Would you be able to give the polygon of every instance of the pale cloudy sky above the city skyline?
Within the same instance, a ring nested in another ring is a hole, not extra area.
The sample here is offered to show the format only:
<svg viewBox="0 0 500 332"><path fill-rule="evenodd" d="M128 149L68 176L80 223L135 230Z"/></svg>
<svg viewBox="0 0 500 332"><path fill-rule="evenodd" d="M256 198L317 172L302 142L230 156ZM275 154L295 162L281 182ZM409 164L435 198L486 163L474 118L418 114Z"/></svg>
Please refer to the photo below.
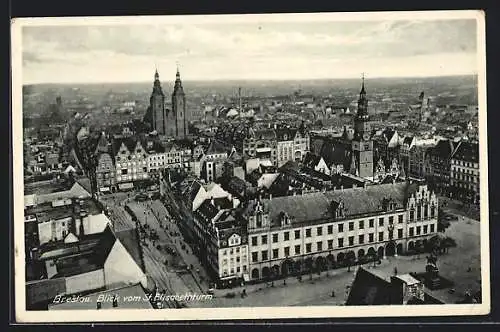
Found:
<svg viewBox="0 0 500 332"><path fill-rule="evenodd" d="M22 30L23 83L477 73L476 21L244 21Z"/></svg>

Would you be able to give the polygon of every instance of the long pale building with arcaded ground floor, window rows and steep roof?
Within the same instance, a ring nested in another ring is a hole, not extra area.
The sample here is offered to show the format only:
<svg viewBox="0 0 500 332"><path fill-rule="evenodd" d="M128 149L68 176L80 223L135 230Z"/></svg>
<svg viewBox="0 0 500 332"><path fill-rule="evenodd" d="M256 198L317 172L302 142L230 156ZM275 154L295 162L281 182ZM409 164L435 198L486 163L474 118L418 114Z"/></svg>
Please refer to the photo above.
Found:
<svg viewBox="0 0 500 332"><path fill-rule="evenodd" d="M390 183L251 201L250 277L283 277L403 254L437 232L426 185Z"/></svg>

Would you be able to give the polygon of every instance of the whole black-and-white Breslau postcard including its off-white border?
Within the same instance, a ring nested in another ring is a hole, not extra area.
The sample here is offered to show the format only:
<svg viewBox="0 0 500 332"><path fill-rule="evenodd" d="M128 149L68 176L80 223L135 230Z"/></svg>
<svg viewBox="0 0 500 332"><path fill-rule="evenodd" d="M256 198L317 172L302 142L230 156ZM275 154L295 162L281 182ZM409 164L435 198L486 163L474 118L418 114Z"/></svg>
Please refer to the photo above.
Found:
<svg viewBox="0 0 500 332"><path fill-rule="evenodd" d="M490 312L483 12L11 32L18 321Z"/></svg>

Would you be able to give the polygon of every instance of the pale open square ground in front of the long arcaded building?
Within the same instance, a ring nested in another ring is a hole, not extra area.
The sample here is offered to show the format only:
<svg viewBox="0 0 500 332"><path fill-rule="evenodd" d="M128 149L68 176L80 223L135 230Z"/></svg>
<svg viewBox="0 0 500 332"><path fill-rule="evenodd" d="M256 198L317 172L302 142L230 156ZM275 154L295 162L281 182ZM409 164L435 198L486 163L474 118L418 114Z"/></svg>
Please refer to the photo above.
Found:
<svg viewBox="0 0 500 332"><path fill-rule="evenodd" d="M440 274L454 282L454 292L450 289L432 291L433 296L446 303L455 303L464 297L466 291L475 293L481 289L480 260L480 223L460 217L453 221L445 236L454 238L456 248L438 257L437 265ZM425 271L425 254L412 256L387 256L380 265L364 264L369 269L376 269L387 274L398 274ZM277 279L270 283L245 285L233 289L217 289L210 301L190 302L189 307L256 307L256 306L309 306L309 305L343 305L346 289L354 280L356 267L333 269L303 275L302 281L296 277ZM311 279L310 279L311 278ZM245 289L247 296L241 297ZM332 291L335 297L332 297ZM229 294L229 295L228 295Z"/></svg>

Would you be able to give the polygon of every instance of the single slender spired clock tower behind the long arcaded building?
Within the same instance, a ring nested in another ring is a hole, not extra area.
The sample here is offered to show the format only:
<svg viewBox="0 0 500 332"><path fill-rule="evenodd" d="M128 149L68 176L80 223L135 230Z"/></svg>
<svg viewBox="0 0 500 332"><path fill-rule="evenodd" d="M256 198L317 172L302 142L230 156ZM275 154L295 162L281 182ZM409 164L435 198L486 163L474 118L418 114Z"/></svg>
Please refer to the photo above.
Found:
<svg viewBox="0 0 500 332"><path fill-rule="evenodd" d="M361 85L358 99L358 111L354 117L354 138L352 140L351 172L355 175L373 179L373 141L368 116L368 99L366 99L365 78Z"/></svg>

